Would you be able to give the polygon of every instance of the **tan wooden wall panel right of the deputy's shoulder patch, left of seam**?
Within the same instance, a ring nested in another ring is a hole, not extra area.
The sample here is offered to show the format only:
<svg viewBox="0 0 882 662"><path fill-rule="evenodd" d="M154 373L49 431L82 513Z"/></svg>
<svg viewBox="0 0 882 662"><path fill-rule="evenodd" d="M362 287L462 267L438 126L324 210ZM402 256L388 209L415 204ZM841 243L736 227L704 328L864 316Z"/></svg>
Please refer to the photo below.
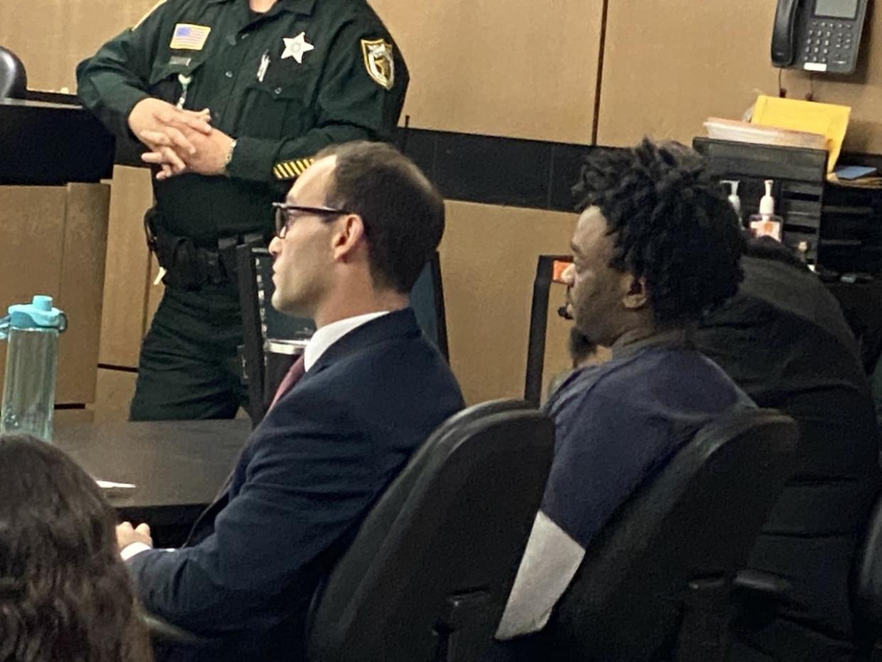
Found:
<svg viewBox="0 0 882 662"><path fill-rule="evenodd" d="M407 59L413 126L591 139L602 0L371 4Z"/></svg>

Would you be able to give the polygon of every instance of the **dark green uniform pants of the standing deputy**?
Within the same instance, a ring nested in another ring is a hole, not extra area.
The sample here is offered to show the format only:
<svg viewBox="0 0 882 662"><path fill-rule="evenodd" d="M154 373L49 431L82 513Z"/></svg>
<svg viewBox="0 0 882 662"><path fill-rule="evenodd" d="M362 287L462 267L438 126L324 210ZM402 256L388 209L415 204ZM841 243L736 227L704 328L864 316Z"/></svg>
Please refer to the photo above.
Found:
<svg viewBox="0 0 882 662"><path fill-rule="evenodd" d="M235 287L167 288L141 345L133 421L233 418L247 403Z"/></svg>

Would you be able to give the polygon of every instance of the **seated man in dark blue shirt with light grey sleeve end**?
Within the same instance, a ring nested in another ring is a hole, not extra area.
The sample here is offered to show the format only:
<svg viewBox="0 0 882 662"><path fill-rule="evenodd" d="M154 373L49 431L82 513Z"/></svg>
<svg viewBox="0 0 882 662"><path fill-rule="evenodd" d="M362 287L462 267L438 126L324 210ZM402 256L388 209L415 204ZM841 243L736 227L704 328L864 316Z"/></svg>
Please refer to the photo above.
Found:
<svg viewBox="0 0 882 662"><path fill-rule="evenodd" d="M700 160L649 140L599 150L574 192L568 305L612 359L574 372L546 405L555 458L500 639L543 628L617 508L702 425L753 406L689 339L742 278L736 215Z"/></svg>

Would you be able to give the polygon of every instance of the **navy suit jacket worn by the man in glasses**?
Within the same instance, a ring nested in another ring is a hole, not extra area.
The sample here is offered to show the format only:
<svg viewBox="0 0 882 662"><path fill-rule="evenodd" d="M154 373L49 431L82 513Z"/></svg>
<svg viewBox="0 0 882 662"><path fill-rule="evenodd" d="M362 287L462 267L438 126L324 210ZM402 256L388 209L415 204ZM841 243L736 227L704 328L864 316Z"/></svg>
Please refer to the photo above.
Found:
<svg viewBox="0 0 882 662"><path fill-rule="evenodd" d="M411 309L344 335L251 433L198 543L129 561L146 609L221 637L225 658L297 658L318 583L415 448L462 407Z"/></svg>

